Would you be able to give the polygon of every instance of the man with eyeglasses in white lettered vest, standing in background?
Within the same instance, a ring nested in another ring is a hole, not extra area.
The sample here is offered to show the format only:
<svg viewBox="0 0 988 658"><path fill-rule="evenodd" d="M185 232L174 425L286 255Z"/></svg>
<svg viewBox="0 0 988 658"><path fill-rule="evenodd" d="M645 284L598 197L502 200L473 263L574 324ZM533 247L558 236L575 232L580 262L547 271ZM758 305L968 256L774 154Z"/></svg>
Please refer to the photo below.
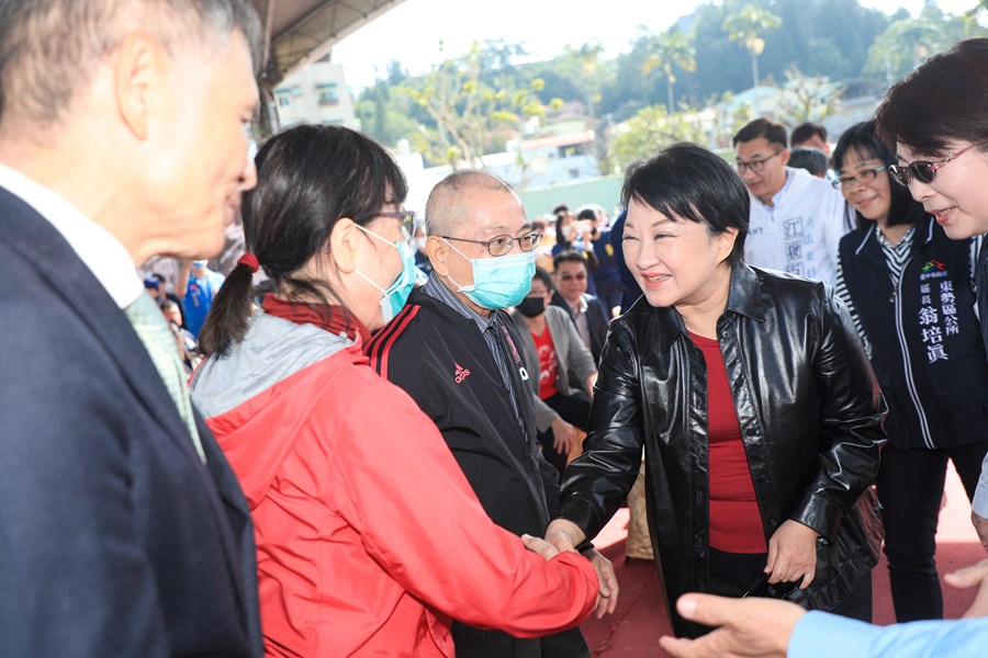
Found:
<svg viewBox="0 0 988 658"><path fill-rule="evenodd" d="M756 118L733 145L734 167L752 197L745 262L832 285L838 245L851 226L843 196L828 181L786 166L779 124Z"/></svg>

